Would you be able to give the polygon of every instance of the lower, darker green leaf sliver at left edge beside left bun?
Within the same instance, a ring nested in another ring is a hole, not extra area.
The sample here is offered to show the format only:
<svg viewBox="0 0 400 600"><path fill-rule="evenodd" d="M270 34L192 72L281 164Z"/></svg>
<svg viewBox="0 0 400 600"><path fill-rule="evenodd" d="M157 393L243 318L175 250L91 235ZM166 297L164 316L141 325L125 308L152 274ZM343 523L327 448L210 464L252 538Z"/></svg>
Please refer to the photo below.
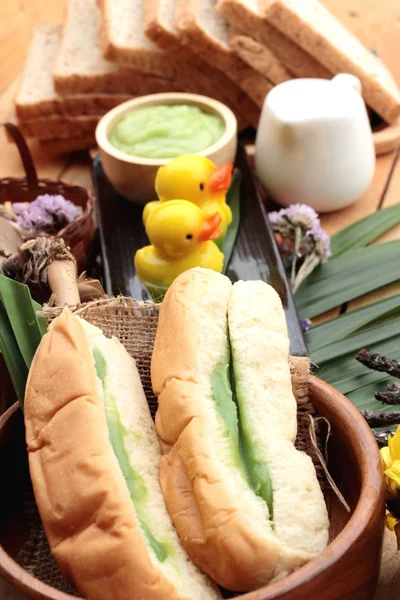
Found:
<svg viewBox="0 0 400 600"><path fill-rule="evenodd" d="M17 340L11 323L7 316L7 311L0 301L0 350L10 374L15 393L21 405L24 402L25 384L28 377L28 368L18 348Z"/></svg>

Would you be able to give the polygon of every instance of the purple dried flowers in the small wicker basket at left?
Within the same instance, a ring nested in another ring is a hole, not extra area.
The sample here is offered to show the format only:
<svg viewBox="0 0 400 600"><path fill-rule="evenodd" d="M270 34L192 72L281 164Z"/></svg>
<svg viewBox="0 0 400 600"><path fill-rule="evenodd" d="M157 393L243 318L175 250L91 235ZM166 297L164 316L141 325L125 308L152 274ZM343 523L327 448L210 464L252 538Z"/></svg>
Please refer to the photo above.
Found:
<svg viewBox="0 0 400 600"><path fill-rule="evenodd" d="M75 221L82 209L64 196L43 194L28 205L16 202L13 212L18 226L25 231L56 233Z"/></svg>

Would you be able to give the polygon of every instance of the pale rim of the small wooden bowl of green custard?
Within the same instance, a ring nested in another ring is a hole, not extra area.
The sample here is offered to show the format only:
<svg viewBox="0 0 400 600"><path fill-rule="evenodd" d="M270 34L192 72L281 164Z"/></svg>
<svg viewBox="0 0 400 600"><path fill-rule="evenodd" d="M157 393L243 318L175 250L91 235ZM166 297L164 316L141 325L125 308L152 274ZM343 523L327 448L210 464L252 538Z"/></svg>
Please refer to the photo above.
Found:
<svg viewBox="0 0 400 600"><path fill-rule="evenodd" d="M119 121L126 113L131 110L142 108L144 106L156 106L158 104L191 104L203 107L208 110L212 110L221 117L225 124L225 131L222 136L211 146L196 152L199 156L209 156L224 148L232 139L237 135L237 119L234 113L228 106L209 98L208 96L202 96L200 94L187 94L184 92L168 92L159 94L148 94L147 96L140 96L138 98L132 98L122 102L115 108L108 111L98 122L95 132L96 142L100 150L112 156L114 159L127 164L143 165L150 167L159 167L167 164L172 160L171 158L145 158L143 156L136 156L133 154L127 154L122 150L118 150L111 144L108 139L108 133L111 127Z"/></svg>

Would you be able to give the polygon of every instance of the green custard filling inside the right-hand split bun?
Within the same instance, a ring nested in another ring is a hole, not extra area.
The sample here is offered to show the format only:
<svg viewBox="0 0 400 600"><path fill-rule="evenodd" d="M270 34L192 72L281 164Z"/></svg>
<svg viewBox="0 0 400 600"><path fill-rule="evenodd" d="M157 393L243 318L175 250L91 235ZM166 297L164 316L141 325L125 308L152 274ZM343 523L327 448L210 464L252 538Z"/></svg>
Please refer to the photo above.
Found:
<svg viewBox="0 0 400 600"><path fill-rule="evenodd" d="M231 354L231 363L234 371L233 354ZM214 369L211 374L211 386L215 406L225 426L225 435L230 440L234 464L246 476L253 491L267 503L272 520L271 474L260 449L252 443L251 427L246 414L246 400L241 394L237 396L229 365L218 365Z"/></svg>

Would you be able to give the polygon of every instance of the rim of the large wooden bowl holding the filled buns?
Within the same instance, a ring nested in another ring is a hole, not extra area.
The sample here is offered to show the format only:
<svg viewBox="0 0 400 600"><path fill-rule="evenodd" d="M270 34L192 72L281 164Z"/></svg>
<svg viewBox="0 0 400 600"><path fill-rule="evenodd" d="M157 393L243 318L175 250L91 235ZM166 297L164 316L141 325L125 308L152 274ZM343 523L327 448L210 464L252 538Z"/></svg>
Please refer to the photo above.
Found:
<svg viewBox="0 0 400 600"><path fill-rule="evenodd" d="M382 512L383 532L384 479L379 449L369 425L350 400L318 377L310 376L310 392L312 398L319 393L323 394L325 404L332 411L338 411L340 406L340 418L352 424L354 432L353 447L359 446L362 453L368 456L368 460L361 467L360 497L348 523L321 554L284 579L238 596L243 600L273 600L279 598L281 594L293 591L302 584L314 579L332 567L363 536L368 529L371 515L376 517ZM19 404L16 402L0 417L0 433L7 421L18 410ZM372 493L373 490L375 493ZM11 558L2 545L0 545L0 575L12 585L15 585L17 589L27 595L31 594L33 598L39 598L40 600L72 600L74 598L70 594L61 592L36 579ZM84 599L78 597L75 600Z"/></svg>

